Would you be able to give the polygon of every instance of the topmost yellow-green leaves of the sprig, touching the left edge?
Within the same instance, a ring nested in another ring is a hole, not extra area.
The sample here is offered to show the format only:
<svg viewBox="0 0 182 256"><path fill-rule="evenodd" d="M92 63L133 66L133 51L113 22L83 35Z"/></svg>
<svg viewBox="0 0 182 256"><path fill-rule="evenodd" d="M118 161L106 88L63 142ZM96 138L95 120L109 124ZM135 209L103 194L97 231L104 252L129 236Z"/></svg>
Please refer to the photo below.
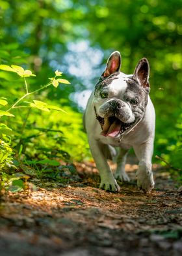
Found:
<svg viewBox="0 0 182 256"><path fill-rule="evenodd" d="M17 66L17 65L0 65L0 69L3 71L10 71L10 72L16 72L21 77L29 77L29 76L36 76L35 74L32 74L32 71L29 71L28 69L23 69L23 67Z"/></svg>

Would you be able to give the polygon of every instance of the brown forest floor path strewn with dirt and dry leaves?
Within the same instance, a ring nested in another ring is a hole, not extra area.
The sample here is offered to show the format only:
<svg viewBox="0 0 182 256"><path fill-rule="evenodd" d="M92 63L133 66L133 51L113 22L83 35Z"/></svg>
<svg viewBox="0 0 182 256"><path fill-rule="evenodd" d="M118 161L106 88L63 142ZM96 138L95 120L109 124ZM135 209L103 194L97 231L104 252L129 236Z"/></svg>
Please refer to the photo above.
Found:
<svg viewBox="0 0 182 256"><path fill-rule="evenodd" d="M0 255L182 255L182 189L153 165L155 189L136 187L137 166L120 193L98 189L94 163L62 185L32 177L37 189L1 195Z"/></svg>

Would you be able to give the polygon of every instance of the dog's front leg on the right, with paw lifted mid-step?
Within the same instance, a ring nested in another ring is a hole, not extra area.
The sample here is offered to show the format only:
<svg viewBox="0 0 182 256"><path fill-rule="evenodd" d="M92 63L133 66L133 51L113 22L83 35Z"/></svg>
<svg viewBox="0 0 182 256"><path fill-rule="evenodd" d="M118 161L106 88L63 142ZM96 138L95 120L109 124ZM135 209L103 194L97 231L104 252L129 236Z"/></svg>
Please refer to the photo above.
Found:
<svg viewBox="0 0 182 256"><path fill-rule="evenodd" d="M139 165L136 172L137 185L145 193L151 191L154 187L153 173L151 171L151 157L153 155L153 138L148 142L134 147L136 157L138 157Z"/></svg>

